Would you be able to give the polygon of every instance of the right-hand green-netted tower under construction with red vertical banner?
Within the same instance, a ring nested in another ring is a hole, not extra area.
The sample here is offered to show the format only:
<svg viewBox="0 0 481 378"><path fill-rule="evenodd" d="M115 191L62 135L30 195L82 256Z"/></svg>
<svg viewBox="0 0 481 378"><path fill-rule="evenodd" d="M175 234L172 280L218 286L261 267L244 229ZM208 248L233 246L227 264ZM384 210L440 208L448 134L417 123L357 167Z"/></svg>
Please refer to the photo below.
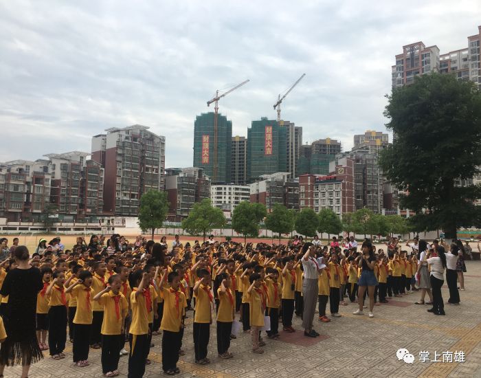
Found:
<svg viewBox="0 0 481 378"><path fill-rule="evenodd" d="M286 170L286 128L262 117L247 129L247 182ZM289 173L290 175L290 173Z"/></svg>

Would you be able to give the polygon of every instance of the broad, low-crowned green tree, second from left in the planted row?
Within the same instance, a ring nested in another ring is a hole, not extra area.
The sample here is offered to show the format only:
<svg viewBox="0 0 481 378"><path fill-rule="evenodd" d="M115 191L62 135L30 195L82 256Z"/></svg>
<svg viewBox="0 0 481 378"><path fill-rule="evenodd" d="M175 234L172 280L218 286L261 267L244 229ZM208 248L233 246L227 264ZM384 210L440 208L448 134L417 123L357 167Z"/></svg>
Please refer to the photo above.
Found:
<svg viewBox="0 0 481 378"><path fill-rule="evenodd" d="M186 219L182 221L182 229L191 235L205 235L214 228L222 228L227 223L224 213L219 208L214 208L210 199L203 199L194 203Z"/></svg>

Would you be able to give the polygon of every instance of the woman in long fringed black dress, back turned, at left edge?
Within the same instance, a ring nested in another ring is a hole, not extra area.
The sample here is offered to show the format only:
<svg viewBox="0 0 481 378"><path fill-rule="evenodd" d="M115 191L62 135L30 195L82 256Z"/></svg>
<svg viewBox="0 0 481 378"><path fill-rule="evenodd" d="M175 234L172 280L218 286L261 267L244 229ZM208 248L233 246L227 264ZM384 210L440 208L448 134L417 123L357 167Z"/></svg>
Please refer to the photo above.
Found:
<svg viewBox="0 0 481 378"><path fill-rule="evenodd" d="M30 365L43 358L35 334L36 297L43 287L40 270L29 264L30 254L21 245L14 252L17 267L8 271L0 296L8 296L3 322L7 339L0 348L0 377L6 366L22 365L22 378Z"/></svg>

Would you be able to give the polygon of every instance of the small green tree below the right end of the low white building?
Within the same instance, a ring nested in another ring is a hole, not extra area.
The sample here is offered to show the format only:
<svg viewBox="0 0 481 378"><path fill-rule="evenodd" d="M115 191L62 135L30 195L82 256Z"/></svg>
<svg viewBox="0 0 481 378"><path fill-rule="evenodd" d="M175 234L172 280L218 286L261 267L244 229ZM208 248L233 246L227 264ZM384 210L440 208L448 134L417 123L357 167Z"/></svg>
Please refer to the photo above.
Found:
<svg viewBox="0 0 481 378"><path fill-rule="evenodd" d="M243 234L245 243L247 236L258 236L259 223L266 215L267 210L262 203L242 201L232 212L232 230Z"/></svg>

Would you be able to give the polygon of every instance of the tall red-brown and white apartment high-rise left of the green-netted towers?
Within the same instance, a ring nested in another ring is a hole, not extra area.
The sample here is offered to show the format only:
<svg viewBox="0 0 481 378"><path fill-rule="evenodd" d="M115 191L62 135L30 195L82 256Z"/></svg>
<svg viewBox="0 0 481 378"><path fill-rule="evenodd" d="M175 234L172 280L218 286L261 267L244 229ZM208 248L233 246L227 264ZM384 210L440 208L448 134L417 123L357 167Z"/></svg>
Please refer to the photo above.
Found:
<svg viewBox="0 0 481 378"><path fill-rule="evenodd" d="M164 189L166 138L135 124L92 137L92 159L104 168L104 212L137 216L139 199Z"/></svg>

